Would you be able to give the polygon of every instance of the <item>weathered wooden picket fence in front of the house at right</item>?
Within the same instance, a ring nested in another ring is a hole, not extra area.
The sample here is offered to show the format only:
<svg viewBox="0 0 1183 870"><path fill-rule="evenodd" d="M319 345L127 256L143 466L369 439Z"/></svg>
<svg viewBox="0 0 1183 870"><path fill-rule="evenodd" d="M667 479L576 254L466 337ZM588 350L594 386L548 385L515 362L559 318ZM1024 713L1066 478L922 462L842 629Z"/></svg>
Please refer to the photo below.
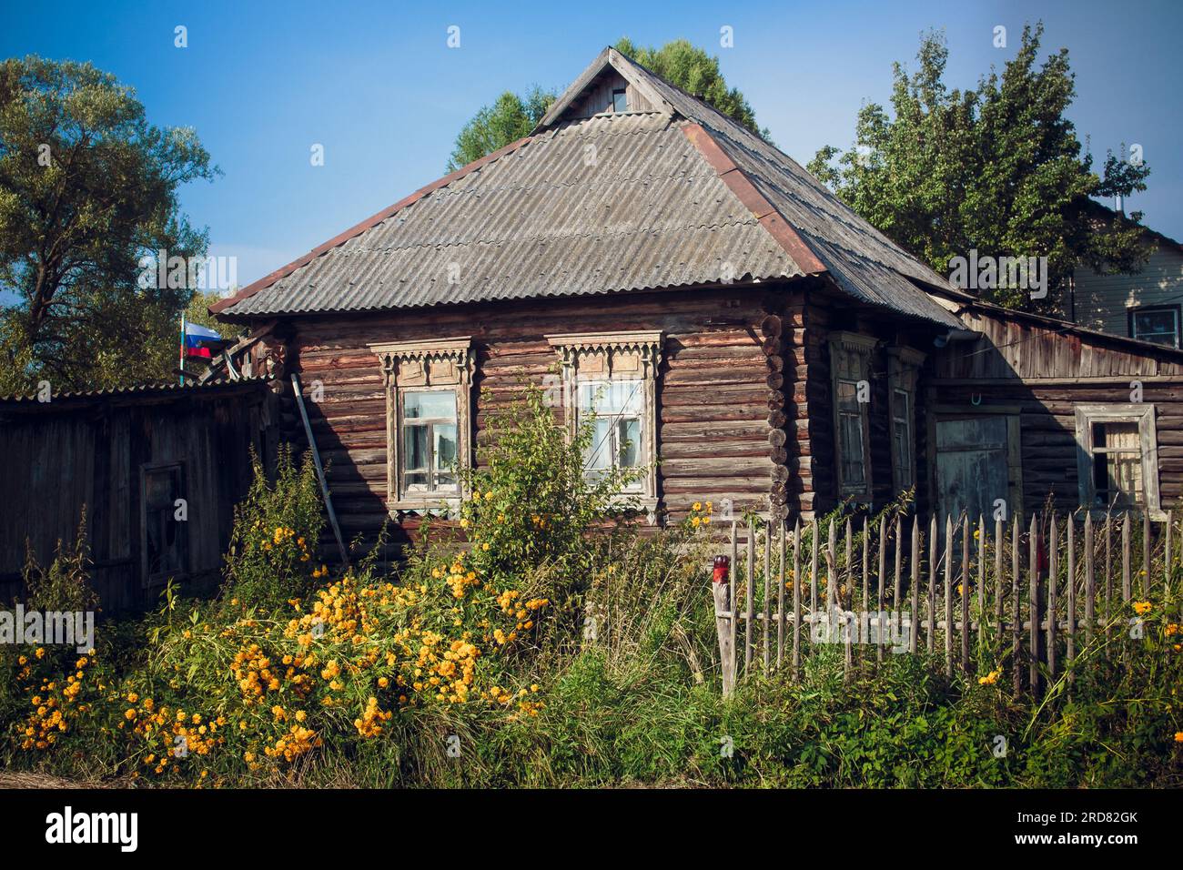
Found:
<svg viewBox="0 0 1183 870"><path fill-rule="evenodd" d="M712 578L724 695L752 672L797 679L822 644L842 646L848 677L887 655L943 653L946 676L989 668L985 679L1039 695L1094 640L1137 637L1136 599L1156 585L1170 597L1175 522L1086 510L1026 527L906 514L732 522Z"/></svg>

